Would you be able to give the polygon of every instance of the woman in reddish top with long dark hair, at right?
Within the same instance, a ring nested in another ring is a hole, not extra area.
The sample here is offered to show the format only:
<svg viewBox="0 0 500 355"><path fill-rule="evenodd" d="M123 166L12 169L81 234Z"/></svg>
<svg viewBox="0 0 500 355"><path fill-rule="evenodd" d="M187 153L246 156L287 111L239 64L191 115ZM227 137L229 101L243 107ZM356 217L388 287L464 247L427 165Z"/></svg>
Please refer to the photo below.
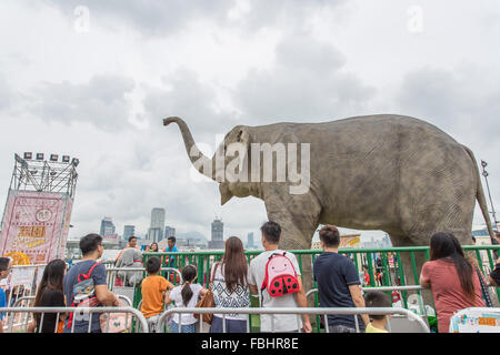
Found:
<svg viewBox="0 0 500 355"><path fill-rule="evenodd" d="M478 273L451 233L432 235L430 262L422 266L420 284L432 291L439 333L449 332L450 317L457 311L484 307Z"/></svg>

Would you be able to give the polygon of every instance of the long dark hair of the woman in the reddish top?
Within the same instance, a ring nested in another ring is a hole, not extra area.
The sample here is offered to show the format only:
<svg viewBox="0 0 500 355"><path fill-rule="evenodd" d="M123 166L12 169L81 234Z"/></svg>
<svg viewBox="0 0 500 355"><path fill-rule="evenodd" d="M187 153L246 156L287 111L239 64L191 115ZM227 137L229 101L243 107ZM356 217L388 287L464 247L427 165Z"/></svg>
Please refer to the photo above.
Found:
<svg viewBox="0 0 500 355"><path fill-rule="evenodd" d="M430 241L430 260L443 260L453 263L460 278L460 285L471 301L474 300L474 284L472 283L473 266L466 258L462 246L451 233L439 232Z"/></svg>

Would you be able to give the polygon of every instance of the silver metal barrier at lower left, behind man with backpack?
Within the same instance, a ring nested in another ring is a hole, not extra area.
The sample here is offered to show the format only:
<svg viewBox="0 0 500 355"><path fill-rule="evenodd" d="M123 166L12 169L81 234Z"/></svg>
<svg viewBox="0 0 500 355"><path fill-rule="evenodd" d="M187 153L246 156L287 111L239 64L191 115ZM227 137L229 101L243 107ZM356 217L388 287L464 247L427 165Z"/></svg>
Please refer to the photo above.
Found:
<svg viewBox="0 0 500 355"><path fill-rule="evenodd" d="M6 313L7 316L9 316L9 314L13 313L13 314L18 314L18 313L41 313L41 317L40 317L40 325L39 325L39 332L41 333L41 329L43 328L43 318L46 314L57 314L56 320L59 320L60 316L62 314L68 314L68 313L77 313L77 314L89 314L89 328L88 332L86 333L90 333L91 332L91 325L92 325L92 314L94 313L126 313L126 324L128 324L128 314L131 313L131 320L134 320L136 322L139 321L139 325L140 327L137 327L136 331L142 331L142 333L149 333L149 327L148 327L148 322L146 321L144 316L142 315L142 313L140 313L138 310L132 308L132 307L4 307L1 310L2 313ZM106 329L109 328L109 317L107 321L107 325L106 325ZM54 332L57 332L58 329L58 322L54 322ZM74 333L74 323L72 324L71 327L71 332L70 333ZM24 328L27 329L27 328ZM7 327L8 333L12 333L13 331L13 326L11 324L8 325ZM19 329L17 329L19 332Z"/></svg>

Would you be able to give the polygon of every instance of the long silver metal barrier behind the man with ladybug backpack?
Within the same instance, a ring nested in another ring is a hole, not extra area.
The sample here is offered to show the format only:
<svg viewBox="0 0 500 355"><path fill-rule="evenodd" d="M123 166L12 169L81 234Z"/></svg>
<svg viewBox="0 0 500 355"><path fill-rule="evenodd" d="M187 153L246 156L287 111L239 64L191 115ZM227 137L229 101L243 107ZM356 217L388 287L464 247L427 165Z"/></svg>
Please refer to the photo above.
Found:
<svg viewBox="0 0 500 355"><path fill-rule="evenodd" d="M401 314L407 316L409 320L417 322L417 324L422 329L422 333L430 333L429 327L427 324L422 321L420 316L414 314L411 311L401 308L401 307L364 307L364 308L312 308L312 307L303 307L303 308L171 308L166 312L163 312L160 315L160 318L158 320L158 329L162 329L166 326L166 322L170 315L179 314L179 324L182 324L182 314L222 314L222 332L226 333L226 314L294 314L297 317L300 317L302 314L309 314L309 315L358 315L358 314L368 314L368 315L380 315L384 314L387 317L392 314ZM200 316L200 328L202 326L202 316ZM354 316L356 322L356 331L357 333L360 333L360 327L358 324L358 317ZM326 332L329 332L329 325L328 322L326 323ZM388 322L389 324L389 322ZM178 327L179 333L182 331L182 326ZM390 329L389 329L390 331ZM271 317L271 332L274 333L274 323L273 318ZM250 333L250 322L247 322L247 333Z"/></svg>

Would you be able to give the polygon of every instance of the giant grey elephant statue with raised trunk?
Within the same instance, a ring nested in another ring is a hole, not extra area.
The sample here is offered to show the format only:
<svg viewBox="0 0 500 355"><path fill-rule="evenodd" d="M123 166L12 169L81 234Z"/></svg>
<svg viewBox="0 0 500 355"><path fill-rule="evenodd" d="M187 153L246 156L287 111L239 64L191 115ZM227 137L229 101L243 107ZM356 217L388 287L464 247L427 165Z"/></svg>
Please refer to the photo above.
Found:
<svg viewBox="0 0 500 355"><path fill-rule="evenodd" d="M172 122L198 171L219 182L222 204L232 196L263 200L269 220L282 227L282 248L310 248L319 224L382 230L393 246L429 245L439 231L470 244L476 200L493 237L472 152L428 122L379 114L322 123L237 125L211 160L199 151L184 121L163 120L164 125ZM234 144L237 149L231 148ZM277 180L283 146L289 153L286 162L301 168L301 175L287 171L294 179ZM272 179L266 180L269 148L276 169L271 165ZM236 156L239 164L233 164ZM423 261L423 255L417 257L418 270ZM304 280L306 290L308 284Z"/></svg>

